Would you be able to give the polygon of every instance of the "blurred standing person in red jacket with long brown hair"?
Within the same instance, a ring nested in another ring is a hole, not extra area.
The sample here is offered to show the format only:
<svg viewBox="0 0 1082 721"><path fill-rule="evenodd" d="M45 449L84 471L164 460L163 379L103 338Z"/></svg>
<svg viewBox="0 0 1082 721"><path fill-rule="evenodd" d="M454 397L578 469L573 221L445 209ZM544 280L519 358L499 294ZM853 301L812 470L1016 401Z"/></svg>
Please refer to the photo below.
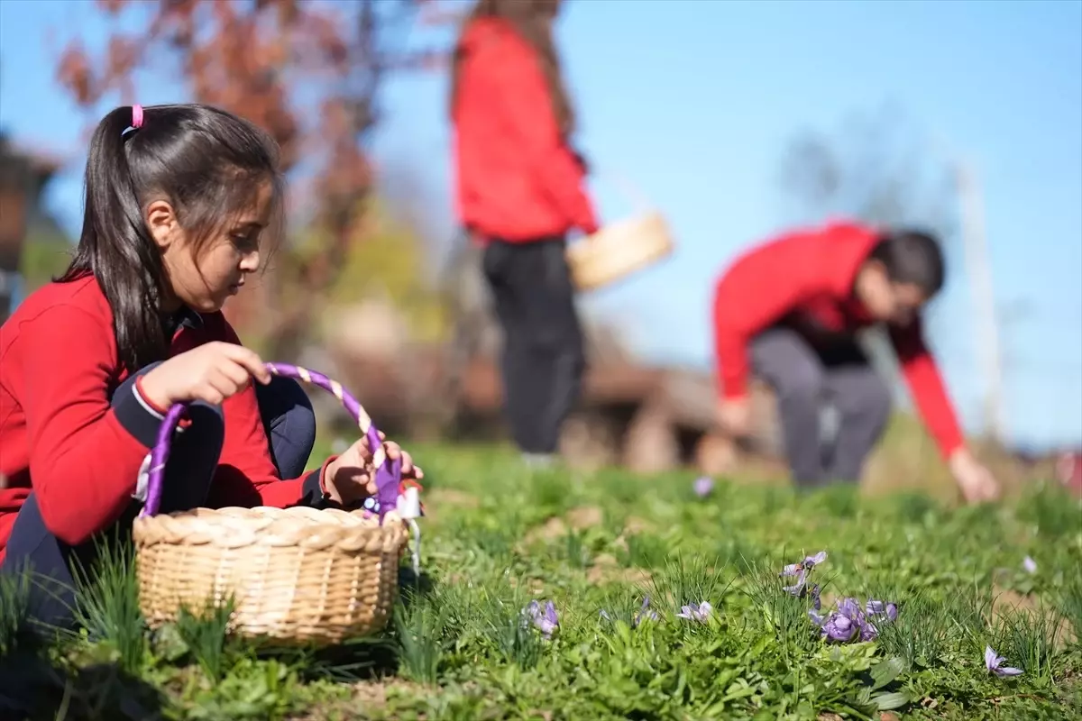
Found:
<svg viewBox="0 0 1082 721"><path fill-rule="evenodd" d="M484 246L503 330L505 414L528 462L555 455L585 368L567 235L597 230L571 148L553 40L560 0L479 0L454 49L450 116L459 222Z"/></svg>

